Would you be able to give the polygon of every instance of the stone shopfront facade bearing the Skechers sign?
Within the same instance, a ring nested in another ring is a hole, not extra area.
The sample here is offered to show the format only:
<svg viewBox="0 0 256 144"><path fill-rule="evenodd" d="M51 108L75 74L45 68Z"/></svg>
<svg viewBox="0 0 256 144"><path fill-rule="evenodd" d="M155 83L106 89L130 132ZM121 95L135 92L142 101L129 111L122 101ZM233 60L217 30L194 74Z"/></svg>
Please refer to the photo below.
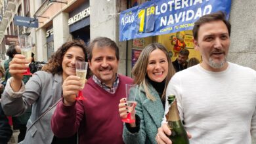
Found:
<svg viewBox="0 0 256 144"><path fill-rule="evenodd" d="M72 39L90 39L90 5L87 0L33 1L33 16L39 21L35 29L38 59L47 61L63 43Z"/></svg>

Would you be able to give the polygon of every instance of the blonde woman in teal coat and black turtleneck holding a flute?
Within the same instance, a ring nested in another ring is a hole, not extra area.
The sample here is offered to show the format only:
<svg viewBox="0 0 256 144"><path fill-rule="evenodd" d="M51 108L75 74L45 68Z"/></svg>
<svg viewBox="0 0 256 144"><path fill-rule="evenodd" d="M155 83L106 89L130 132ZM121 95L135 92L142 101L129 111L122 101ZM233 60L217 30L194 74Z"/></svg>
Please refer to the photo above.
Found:
<svg viewBox="0 0 256 144"><path fill-rule="evenodd" d="M146 46L132 70L135 84L139 85L136 112L127 110L126 99L119 103L119 115L126 118L127 113L135 119L134 123L123 128L125 143L156 143L156 134L161 126L164 113L166 87L175 73L167 49L152 43Z"/></svg>

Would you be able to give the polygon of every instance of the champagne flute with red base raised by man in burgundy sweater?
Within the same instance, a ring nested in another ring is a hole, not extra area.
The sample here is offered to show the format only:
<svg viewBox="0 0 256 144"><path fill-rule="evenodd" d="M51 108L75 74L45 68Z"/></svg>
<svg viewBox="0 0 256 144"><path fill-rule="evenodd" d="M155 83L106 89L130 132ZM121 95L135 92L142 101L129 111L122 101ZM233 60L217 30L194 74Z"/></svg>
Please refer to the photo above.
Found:
<svg viewBox="0 0 256 144"><path fill-rule="evenodd" d="M80 78L80 82L82 84L81 88L85 87L85 79L86 79L86 74L87 74L87 67L88 67L88 63L87 62L78 62L78 61L75 62L75 71L76 71L77 77ZM77 99L77 100L85 99L81 90L79 90L78 96L75 99Z"/></svg>

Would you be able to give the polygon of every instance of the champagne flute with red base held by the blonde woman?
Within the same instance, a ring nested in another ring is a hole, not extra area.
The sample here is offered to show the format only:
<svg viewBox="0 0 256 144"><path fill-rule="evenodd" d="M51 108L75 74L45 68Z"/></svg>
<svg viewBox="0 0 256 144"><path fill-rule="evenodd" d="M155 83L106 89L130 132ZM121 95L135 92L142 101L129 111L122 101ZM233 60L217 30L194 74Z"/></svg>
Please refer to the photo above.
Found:
<svg viewBox="0 0 256 144"><path fill-rule="evenodd" d="M126 122L126 123L135 122L135 120L131 118L131 111L134 109L133 105L136 102L135 98L137 96L138 88L139 88L138 84L125 84L125 94L126 94L129 113L127 115L127 118L122 119L123 122Z"/></svg>

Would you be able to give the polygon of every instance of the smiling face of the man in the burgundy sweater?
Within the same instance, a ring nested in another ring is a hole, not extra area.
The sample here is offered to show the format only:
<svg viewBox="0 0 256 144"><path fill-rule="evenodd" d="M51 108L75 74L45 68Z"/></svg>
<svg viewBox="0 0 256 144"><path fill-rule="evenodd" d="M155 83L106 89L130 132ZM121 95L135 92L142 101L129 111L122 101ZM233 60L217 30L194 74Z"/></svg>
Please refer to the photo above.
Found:
<svg viewBox="0 0 256 144"><path fill-rule="evenodd" d="M93 75L107 86L112 87L116 79L119 60L116 58L116 51L109 46L98 47L95 45L92 51L92 58L89 66Z"/></svg>

